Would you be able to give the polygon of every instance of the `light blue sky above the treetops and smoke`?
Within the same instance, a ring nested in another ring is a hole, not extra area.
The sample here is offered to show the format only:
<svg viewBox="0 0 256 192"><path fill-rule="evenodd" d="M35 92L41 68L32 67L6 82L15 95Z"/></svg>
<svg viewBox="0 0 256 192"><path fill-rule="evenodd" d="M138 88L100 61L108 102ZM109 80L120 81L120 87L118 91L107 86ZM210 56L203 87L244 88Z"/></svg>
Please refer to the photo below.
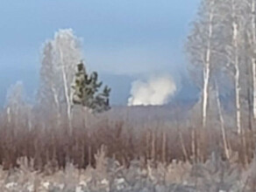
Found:
<svg viewBox="0 0 256 192"><path fill-rule="evenodd" d="M59 29L82 38L89 69L148 76L185 71L184 42L199 0L9 0L0 3L0 104L9 86L39 82L40 53ZM118 82L119 86L122 82Z"/></svg>

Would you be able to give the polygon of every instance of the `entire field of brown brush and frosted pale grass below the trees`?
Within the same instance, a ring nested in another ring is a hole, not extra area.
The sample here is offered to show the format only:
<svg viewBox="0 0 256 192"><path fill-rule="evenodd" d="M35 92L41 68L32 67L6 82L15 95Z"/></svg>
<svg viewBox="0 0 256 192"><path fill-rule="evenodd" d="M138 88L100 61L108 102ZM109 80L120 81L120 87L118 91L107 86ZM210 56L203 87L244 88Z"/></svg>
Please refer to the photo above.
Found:
<svg viewBox="0 0 256 192"><path fill-rule="evenodd" d="M253 130L78 114L3 111L0 191L256 190Z"/></svg>

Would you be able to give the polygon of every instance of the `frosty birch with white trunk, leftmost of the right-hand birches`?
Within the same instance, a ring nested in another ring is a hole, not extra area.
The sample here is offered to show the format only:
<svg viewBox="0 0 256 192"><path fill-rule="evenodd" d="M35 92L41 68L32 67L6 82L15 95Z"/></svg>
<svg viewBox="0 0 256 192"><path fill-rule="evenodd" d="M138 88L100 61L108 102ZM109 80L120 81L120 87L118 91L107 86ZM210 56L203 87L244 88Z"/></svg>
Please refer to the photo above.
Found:
<svg viewBox="0 0 256 192"><path fill-rule="evenodd" d="M202 88L202 125L206 126L208 116L208 102L210 79L215 64L215 51L218 49L217 28L217 0L203 0L196 22L193 23L193 30L188 36L187 51L192 70L197 73L200 87Z"/></svg>

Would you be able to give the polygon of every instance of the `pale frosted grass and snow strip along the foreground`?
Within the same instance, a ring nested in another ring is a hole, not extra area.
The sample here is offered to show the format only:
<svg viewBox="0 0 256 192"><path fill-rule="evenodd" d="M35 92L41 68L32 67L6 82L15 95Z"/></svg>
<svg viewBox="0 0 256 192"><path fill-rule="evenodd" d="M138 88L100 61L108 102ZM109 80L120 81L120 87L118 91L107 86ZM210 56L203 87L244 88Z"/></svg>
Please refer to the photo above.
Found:
<svg viewBox="0 0 256 192"><path fill-rule="evenodd" d="M233 161L233 162L232 162ZM35 171L32 161L25 158L20 167L0 172L0 191L3 192L228 192L255 191L256 167L248 168L221 161L212 154L205 163L173 161L169 165L148 161L132 161L129 168L117 161L96 155L96 168L65 170L46 168Z"/></svg>

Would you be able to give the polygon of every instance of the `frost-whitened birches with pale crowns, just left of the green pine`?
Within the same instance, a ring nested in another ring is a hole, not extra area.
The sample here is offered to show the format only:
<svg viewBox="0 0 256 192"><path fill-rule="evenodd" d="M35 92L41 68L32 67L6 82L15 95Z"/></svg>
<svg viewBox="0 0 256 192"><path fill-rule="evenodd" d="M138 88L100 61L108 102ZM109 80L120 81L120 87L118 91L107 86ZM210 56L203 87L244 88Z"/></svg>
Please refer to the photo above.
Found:
<svg viewBox="0 0 256 192"><path fill-rule="evenodd" d="M71 123L71 83L75 67L82 60L80 39L72 30L60 30L44 48L39 98L60 108L64 104ZM61 109L58 109L61 110Z"/></svg>

